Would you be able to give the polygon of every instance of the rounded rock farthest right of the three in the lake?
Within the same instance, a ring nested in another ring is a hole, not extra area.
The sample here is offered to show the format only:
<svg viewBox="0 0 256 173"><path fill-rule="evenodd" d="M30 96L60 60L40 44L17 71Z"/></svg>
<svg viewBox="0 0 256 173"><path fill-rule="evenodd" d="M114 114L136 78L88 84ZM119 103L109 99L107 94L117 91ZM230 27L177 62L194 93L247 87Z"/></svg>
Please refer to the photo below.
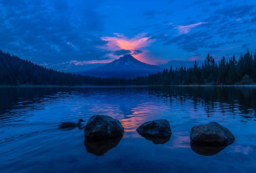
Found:
<svg viewBox="0 0 256 173"><path fill-rule="evenodd" d="M235 141L235 136L217 122L192 127L190 140L197 144L227 144Z"/></svg>

